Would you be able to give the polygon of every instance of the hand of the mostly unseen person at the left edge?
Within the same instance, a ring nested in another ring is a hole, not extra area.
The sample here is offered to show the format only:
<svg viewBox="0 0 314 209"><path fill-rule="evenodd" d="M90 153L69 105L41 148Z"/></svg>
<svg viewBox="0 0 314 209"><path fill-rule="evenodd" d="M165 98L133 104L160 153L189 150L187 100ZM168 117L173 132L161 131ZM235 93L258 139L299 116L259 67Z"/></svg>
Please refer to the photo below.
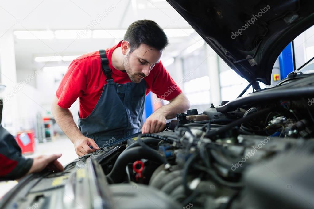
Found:
<svg viewBox="0 0 314 209"><path fill-rule="evenodd" d="M33 160L33 165L27 172L27 174L39 172L44 170L45 168L48 168L55 172L63 171L64 170L63 166L57 160L59 157L61 157L61 155L62 154L52 154L35 157Z"/></svg>

